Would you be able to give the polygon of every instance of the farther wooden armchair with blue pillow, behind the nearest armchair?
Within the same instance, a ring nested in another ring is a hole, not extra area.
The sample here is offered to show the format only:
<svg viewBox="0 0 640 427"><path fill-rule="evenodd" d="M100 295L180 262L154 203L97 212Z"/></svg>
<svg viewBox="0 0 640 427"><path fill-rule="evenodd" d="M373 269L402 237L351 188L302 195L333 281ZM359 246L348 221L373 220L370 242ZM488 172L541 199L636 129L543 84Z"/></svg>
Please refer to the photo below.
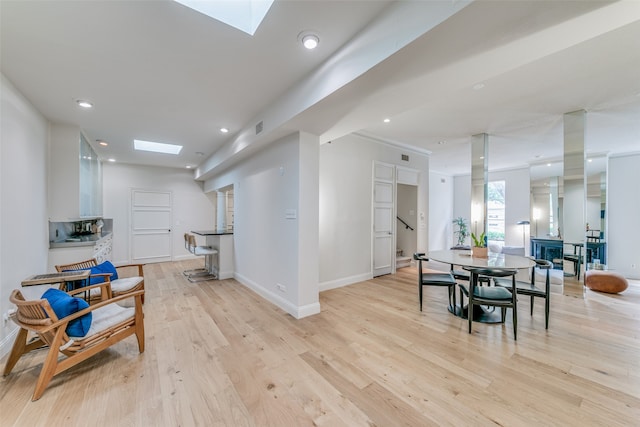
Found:
<svg viewBox="0 0 640 427"><path fill-rule="evenodd" d="M98 264L95 258L72 264L56 265L56 271L91 270L91 284L110 282L109 297L125 295L135 291L144 291L144 264L128 264L114 267L109 261ZM100 289L93 289L90 300L100 300ZM144 303L144 294L142 298Z"/></svg>

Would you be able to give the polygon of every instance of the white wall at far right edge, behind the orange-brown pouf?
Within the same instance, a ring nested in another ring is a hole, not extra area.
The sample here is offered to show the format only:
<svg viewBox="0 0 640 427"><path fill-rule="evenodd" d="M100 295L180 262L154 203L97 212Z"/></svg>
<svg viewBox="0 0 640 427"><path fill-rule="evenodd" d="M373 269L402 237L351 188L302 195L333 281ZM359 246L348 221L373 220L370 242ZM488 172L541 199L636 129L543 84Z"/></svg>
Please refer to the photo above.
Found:
<svg viewBox="0 0 640 427"><path fill-rule="evenodd" d="M607 167L607 264L640 279L640 153L615 156ZM635 267L632 267L635 265Z"/></svg>

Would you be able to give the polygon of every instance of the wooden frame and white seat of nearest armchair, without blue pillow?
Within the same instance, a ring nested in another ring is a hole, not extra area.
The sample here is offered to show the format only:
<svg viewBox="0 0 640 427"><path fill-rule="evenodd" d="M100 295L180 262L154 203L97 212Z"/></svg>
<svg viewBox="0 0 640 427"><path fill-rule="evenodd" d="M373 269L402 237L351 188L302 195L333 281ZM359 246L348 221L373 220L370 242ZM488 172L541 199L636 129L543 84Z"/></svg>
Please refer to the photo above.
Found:
<svg viewBox="0 0 640 427"><path fill-rule="evenodd" d="M55 375L66 371L130 335L136 335L138 349L140 353L144 352L144 320L142 312L142 295L144 291L135 291L108 299L106 297L106 288L108 286L108 282L105 282L67 292L69 295L74 295L85 292L90 288L105 288L101 293L101 302L62 319L56 316L46 299L26 301L20 290L16 289L11 293L9 300L17 308L12 315L12 320L20 326L20 330L7 359L3 375L7 376L11 373L11 370L23 354L45 345L48 346L47 356L42 364L35 391L31 398L32 401L40 399L45 388ZM124 308L116 304L127 298L135 299L134 308ZM103 310L100 311L100 309ZM114 310L118 315L112 317ZM98 317L111 319L111 321L100 330L92 331L90 329L85 337L70 338L65 332L69 322L90 312L93 312L93 322L96 322ZM38 338L32 342L27 342L29 332L37 334ZM59 353L66 357L58 360Z"/></svg>

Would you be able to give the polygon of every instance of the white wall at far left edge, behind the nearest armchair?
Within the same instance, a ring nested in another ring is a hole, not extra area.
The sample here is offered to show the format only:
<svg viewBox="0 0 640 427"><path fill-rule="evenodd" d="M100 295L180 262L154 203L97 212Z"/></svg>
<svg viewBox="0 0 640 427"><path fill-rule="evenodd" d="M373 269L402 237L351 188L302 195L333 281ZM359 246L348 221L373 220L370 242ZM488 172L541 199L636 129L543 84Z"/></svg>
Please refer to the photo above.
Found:
<svg viewBox="0 0 640 427"><path fill-rule="evenodd" d="M1 75L0 82L0 313L28 276L47 269L46 119ZM0 357L17 327L0 320Z"/></svg>

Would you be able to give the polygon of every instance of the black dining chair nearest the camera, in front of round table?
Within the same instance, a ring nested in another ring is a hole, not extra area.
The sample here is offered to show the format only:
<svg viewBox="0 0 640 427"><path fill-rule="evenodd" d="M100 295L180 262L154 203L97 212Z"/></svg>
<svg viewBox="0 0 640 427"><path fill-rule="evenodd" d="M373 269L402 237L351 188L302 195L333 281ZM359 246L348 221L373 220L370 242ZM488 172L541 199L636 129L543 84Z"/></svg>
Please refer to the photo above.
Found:
<svg viewBox="0 0 640 427"><path fill-rule="evenodd" d="M500 307L502 323L505 321L507 308L511 308L513 315L513 338L518 339L518 309L517 309L517 293L511 292L507 288L501 286L479 286L478 277L487 278L507 278L511 277L512 285L515 287L516 273L515 269L492 269L492 268L473 268L464 267L471 273L468 287L466 284L459 283L460 294L466 295L468 298L469 333L471 333L471 324L473 323L473 313L475 306ZM461 301L462 303L462 301Z"/></svg>

